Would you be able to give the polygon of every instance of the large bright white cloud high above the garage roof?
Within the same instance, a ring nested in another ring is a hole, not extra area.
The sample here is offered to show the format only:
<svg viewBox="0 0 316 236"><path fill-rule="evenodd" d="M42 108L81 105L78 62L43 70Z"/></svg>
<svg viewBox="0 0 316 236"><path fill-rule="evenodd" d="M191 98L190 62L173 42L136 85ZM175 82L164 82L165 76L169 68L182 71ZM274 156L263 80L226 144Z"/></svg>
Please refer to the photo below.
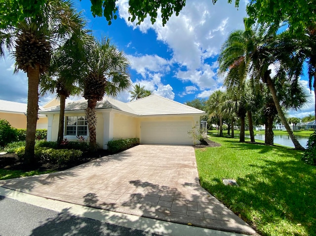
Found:
<svg viewBox="0 0 316 236"><path fill-rule="evenodd" d="M168 45L172 51L169 65L170 63L178 64L180 67L186 68L179 70L176 78L190 80L200 89L211 88L222 82L216 78L217 63L210 66L205 63L205 60L213 58L219 53L222 43L231 31L243 28L243 17L246 16L245 2L240 2L237 9L234 4L225 1L218 1L213 5L209 0L187 0L186 6L179 16L173 14L164 27L162 27L159 12L154 25L147 17L140 26L136 26L136 21L133 23L128 21L128 1L118 0L117 5L119 16L125 20L128 26L139 29L143 33L153 29L157 39ZM149 55L146 56L149 57ZM149 61L152 63L149 65L143 61L146 57L141 56L139 60L136 58L137 56L133 57L135 63L133 63L132 69L143 77L147 70L162 73L163 70L158 70L156 66L168 68L166 61L159 62L157 58Z"/></svg>

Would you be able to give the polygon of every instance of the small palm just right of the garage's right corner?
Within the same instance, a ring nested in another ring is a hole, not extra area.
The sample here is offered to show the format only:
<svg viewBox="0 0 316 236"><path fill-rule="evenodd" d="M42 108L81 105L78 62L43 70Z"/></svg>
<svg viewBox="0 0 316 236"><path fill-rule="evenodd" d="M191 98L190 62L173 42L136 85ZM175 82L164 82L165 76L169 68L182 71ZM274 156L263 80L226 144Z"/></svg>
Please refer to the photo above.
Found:
<svg viewBox="0 0 316 236"><path fill-rule="evenodd" d="M206 104L208 113L211 117L219 118L219 136L223 137L223 111L222 103L224 101L224 92L215 90L208 98Z"/></svg>

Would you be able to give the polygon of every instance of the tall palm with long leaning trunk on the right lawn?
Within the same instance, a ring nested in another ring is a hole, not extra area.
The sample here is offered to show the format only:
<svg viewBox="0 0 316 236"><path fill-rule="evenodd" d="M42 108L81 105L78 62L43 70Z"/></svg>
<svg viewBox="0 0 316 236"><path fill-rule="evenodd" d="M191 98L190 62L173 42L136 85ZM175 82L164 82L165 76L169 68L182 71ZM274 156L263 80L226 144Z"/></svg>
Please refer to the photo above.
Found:
<svg viewBox="0 0 316 236"><path fill-rule="evenodd" d="M293 66L293 53L285 50L287 41L278 40L282 37L276 34L278 26L260 25L258 28L246 29L245 31L232 32L223 44L219 56L220 73L228 74L236 71L239 74L250 75L251 79L261 80L267 84L278 116L285 126L296 149L304 150L290 129L284 113L281 109L276 91L276 79L279 74L288 74L288 79L297 81L299 73L290 70ZM292 61L292 64L289 62ZM297 62L297 61L296 61ZM276 77L271 77L271 65L277 68ZM241 78L241 77L239 77ZM243 79L246 79L244 76ZM234 80L232 80L234 83Z"/></svg>

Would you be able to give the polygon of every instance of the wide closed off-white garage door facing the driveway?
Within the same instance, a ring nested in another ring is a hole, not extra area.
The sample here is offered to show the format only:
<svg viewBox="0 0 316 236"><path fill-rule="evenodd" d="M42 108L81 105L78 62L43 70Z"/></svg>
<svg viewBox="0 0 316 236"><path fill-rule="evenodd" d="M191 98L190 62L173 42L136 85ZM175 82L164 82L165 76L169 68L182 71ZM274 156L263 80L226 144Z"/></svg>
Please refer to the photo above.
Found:
<svg viewBox="0 0 316 236"><path fill-rule="evenodd" d="M191 121L143 121L140 143L193 145L188 134L191 129Z"/></svg>

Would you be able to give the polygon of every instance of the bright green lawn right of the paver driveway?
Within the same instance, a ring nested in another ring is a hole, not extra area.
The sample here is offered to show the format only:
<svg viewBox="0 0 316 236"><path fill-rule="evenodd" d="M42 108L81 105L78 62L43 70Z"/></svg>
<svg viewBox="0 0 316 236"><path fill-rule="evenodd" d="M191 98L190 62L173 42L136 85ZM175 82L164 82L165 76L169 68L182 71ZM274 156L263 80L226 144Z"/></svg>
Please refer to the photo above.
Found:
<svg viewBox="0 0 316 236"><path fill-rule="evenodd" d="M211 137L221 147L196 150L203 188L262 235L316 235L316 167L302 152ZM225 186L234 179L239 187Z"/></svg>

